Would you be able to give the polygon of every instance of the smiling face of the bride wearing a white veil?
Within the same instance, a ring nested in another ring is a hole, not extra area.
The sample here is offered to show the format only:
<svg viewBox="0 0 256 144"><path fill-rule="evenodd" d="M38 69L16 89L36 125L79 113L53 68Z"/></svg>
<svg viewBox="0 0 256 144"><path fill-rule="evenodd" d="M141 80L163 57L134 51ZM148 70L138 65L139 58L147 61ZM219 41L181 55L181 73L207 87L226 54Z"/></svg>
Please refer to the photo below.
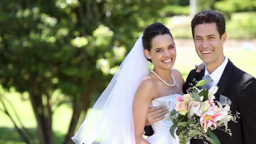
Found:
<svg viewBox="0 0 256 144"><path fill-rule="evenodd" d="M176 59L176 46L169 34L157 35L151 41L150 51L145 54L152 60L154 67L170 70Z"/></svg>

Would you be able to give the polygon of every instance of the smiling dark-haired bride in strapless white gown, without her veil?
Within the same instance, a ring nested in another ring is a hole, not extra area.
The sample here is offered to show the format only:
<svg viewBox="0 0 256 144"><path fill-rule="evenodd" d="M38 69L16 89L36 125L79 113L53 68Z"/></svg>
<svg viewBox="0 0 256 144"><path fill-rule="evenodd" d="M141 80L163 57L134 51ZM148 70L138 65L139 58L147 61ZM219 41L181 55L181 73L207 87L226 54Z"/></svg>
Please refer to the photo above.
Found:
<svg viewBox="0 0 256 144"><path fill-rule="evenodd" d="M161 23L149 25L142 37L144 53L154 69L139 84L133 100L133 122L136 143L178 143L169 129L172 122L168 114L160 122L152 124L154 135L147 140L142 137L148 107L165 105L169 111L174 109L176 96L183 94L183 77L172 69L176 60L176 45L170 30Z"/></svg>

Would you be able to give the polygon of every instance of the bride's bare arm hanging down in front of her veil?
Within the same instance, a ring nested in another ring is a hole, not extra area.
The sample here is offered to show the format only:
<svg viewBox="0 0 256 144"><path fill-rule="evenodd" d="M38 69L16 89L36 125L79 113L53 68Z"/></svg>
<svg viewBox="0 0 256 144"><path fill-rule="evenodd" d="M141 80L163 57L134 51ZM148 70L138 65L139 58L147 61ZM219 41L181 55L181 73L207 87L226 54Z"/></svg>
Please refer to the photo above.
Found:
<svg viewBox="0 0 256 144"><path fill-rule="evenodd" d="M144 126L148 115L149 105L157 94L157 84L151 77L145 77L140 83L133 100L133 122L136 144L149 143L143 138Z"/></svg>

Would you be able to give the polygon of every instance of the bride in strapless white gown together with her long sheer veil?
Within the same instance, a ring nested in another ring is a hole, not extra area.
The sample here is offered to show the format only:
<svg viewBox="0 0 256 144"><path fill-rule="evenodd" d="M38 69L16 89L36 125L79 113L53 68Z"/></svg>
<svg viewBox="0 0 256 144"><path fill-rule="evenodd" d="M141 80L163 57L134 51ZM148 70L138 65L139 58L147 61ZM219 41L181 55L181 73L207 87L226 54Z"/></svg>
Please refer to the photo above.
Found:
<svg viewBox="0 0 256 144"><path fill-rule="evenodd" d="M143 48L144 47L144 48ZM183 77L172 69L176 46L170 30L160 22L144 29L118 72L96 101L77 134L75 143L179 143L169 129L168 114L152 124L154 134L143 138L150 106L174 109L176 96L182 95ZM149 62L154 69L149 73Z"/></svg>

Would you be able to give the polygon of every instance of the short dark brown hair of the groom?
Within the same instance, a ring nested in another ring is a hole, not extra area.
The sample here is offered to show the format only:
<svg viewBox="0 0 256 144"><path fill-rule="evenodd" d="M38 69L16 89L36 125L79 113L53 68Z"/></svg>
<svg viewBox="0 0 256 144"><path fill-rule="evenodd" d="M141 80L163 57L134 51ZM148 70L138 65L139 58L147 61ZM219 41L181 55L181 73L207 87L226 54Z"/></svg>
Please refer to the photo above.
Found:
<svg viewBox="0 0 256 144"><path fill-rule="evenodd" d="M194 29L196 25L201 25L203 23L216 22L217 30L219 32L219 37L226 32L226 20L223 14L218 13L214 10L204 10L197 13L191 21L192 35L194 39Z"/></svg>

